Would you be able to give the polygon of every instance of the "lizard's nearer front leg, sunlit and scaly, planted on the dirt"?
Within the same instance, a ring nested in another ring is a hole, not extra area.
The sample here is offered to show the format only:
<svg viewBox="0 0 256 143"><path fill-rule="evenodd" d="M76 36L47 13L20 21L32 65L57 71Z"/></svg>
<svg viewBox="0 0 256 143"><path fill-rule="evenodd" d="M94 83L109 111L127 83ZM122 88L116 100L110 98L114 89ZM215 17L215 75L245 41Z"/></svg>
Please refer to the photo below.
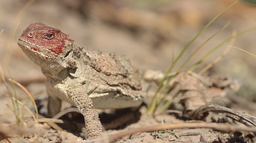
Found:
<svg viewBox="0 0 256 143"><path fill-rule="evenodd" d="M102 135L102 125L99 121L99 114L93 107L93 101L89 95L84 91L81 91L79 86L70 86L67 93L84 116L88 139L100 138Z"/></svg>

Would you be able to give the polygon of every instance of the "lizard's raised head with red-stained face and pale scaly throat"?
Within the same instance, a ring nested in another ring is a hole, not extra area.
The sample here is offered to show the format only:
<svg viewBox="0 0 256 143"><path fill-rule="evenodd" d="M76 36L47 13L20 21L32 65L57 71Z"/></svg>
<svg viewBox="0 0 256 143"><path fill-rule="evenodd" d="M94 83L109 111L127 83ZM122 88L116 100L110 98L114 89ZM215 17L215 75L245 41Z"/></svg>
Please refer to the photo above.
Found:
<svg viewBox="0 0 256 143"><path fill-rule="evenodd" d="M43 23L30 24L18 39L18 45L26 55L43 70L60 71L74 67L74 40L59 29Z"/></svg>

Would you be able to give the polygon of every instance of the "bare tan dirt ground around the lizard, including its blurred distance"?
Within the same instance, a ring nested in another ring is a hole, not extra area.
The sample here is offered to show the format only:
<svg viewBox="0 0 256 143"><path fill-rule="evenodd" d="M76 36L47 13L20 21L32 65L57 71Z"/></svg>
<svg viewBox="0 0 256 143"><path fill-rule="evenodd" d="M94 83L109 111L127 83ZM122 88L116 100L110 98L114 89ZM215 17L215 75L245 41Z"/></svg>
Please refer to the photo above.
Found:
<svg viewBox="0 0 256 143"><path fill-rule="evenodd" d="M0 64L4 79L22 84L36 98L41 115L46 115L47 93L44 87L45 77L38 66L32 63L17 45L17 39L22 31L33 22L42 22L51 27L59 28L69 34L78 45L88 50L100 50L125 55L134 67L144 71L147 69L165 72L180 50L200 31L213 17L227 8L233 0L1 0L0 1ZM237 3L223 14L216 22L207 28L185 51L173 71L177 70L188 56L209 37L229 25L204 45L201 50L189 60L183 71L189 69L209 50L223 42L234 32L240 32L256 25L256 7ZM233 46L255 54L256 31L252 30L235 39ZM204 60L195 73L220 56L228 46L228 42ZM218 100L213 103L228 107L252 116L256 115L255 101L255 57L236 48L225 54L221 61L207 71L207 75L230 77L232 83L239 83L239 90L226 91L227 86L217 86ZM186 78L185 78L186 79ZM185 80L186 81L186 80ZM181 81L180 81L181 82ZM199 82L199 81L198 81ZM221 81L223 83L224 81ZM17 94L33 112L35 109L28 95L7 81L13 95ZM201 83L201 81L200 81ZM238 84L236 84L238 85ZM204 85L205 92L210 93L212 86ZM216 87L216 88L217 88ZM231 88L232 89L232 88ZM145 104L148 104L156 90L156 86L148 92ZM232 89L233 90L233 89ZM23 128L13 127L16 124L12 112L12 101L2 78L0 80L0 143L75 143L82 141L83 135L77 129L64 127L68 132L48 128L46 123L37 125L31 120L31 115L20 105L20 113L26 125ZM214 90L217 92L217 90ZM211 95L214 95L212 93ZM208 97L208 96L207 96ZM204 97L205 98L205 97ZM183 98L184 99L184 98ZM178 99L177 99L178 100ZM190 98L186 98L186 102ZM201 97L191 99L192 105L172 105L168 112L156 115L154 118L146 113L146 105L134 113L135 119L115 129L108 129L104 135L112 135L121 131L140 128L161 123L187 123L193 118L188 113L190 107L202 103ZM194 101L193 101L194 100ZM207 103L211 99L205 99ZM180 99L181 101L181 99ZM178 101L177 101L178 102ZM177 103L176 102L176 103ZM185 104L186 104L185 103ZM62 109L70 107L65 103ZM186 110L187 109L187 110ZM196 109L196 108L195 108ZM193 110L193 109L192 109ZM99 111L102 112L102 111ZM108 111L105 111L108 112ZM187 114L187 116L186 116ZM83 122L81 115L73 115L73 120ZM102 114L101 121L105 119ZM215 115L221 117L222 115ZM74 119L75 118L75 119ZM81 120L80 120L81 119ZM224 118L226 119L226 118ZM212 121L210 121L212 122ZM227 121L230 124L244 126L241 123ZM79 123L78 123L79 124ZM83 123L80 123L83 125ZM81 136L81 137L78 137ZM108 139L105 139L108 142ZM140 132L122 137L116 143L253 143L256 138L252 132L221 132L214 129L172 129L153 132Z"/></svg>

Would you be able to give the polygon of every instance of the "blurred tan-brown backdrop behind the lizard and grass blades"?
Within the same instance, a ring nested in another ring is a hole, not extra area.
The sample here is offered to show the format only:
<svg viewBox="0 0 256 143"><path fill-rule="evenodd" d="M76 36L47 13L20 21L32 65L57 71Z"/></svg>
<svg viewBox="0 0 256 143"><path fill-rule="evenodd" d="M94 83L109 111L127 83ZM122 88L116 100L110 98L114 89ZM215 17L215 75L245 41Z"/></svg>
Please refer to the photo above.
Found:
<svg viewBox="0 0 256 143"><path fill-rule="evenodd" d="M12 78L33 95L46 95L44 76L17 45L17 39L33 22L43 22L70 35L78 45L88 50L101 50L126 55L141 70L166 71L180 50L213 17L235 0L1 0L0 1L0 63L8 78ZM27 5L26 5L27 4ZM24 8L24 6L26 7ZM22 11L22 12L21 12ZM256 25L256 7L237 3L204 31L184 53L177 67L205 40L214 36L189 61L188 70L209 50L239 32ZM17 30L15 30L17 25ZM236 38L233 46L256 54L256 31ZM221 55L227 44L206 59L195 71L200 71ZM255 57L232 48L209 73L231 76L252 90L255 100ZM31 84L33 83L33 84ZM3 82L0 91L6 92ZM22 96L21 96L22 97ZM24 96L25 98L25 96ZM27 98L27 96L26 96ZM5 96L1 99L9 100ZM4 100L1 100L4 101ZM0 111L7 112L6 110Z"/></svg>

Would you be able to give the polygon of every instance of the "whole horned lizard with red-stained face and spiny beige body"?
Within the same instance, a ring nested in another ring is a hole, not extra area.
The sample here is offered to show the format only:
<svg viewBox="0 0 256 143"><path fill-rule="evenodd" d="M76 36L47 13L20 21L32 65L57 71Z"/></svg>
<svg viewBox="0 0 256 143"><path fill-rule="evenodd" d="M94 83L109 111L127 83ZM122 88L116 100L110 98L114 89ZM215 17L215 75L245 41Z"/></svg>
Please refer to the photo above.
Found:
<svg viewBox="0 0 256 143"><path fill-rule="evenodd" d="M141 74L124 57L85 50L59 29L33 23L18 45L47 77L49 117L68 101L84 115L88 139L102 135L95 108L137 107L145 96Z"/></svg>

